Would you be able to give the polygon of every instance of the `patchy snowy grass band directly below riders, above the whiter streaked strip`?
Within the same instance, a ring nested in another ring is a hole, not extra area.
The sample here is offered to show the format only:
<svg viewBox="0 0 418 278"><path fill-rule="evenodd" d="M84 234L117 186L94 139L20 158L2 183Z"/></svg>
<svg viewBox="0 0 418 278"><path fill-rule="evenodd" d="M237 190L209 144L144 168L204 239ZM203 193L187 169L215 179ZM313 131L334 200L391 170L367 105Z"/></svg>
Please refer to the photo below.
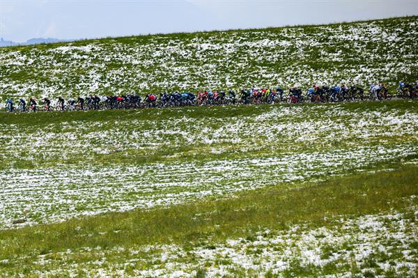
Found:
<svg viewBox="0 0 418 278"><path fill-rule="evenodd" d="M203 162L397 144L416 140L413 121L405 118L396 122L396 118L415 114L416 109L415 101L396 100L22 115L0 112L0 125L4 127L0 169L11 165L33 168ZM357 125L358 121L362 125ZM250 132L259 125L260 130ZM394 134L390 133L392 128L408 131ZM370 136L364 132L370 132ZM123 148L122 153L105 152L114 150L115 144ZM75 148L79 151L73 152ZM8 160L10 155L13 160Z"/></svg>

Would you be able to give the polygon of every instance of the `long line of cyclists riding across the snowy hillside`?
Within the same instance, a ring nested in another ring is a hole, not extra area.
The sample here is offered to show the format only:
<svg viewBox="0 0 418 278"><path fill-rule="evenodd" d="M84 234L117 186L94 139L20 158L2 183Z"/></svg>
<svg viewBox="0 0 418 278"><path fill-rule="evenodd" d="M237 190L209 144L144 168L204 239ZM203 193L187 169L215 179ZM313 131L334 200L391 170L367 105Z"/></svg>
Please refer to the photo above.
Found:
<svg viewBox="0 0 418 278"><path fill-rule="evenodd" d="M397 96L400 98L418 98L418 82L407 84L399 82ZM64 111L64 110L87 110L87 109L129 109L142 107L177 107L191 105L235 105L235 104L261 104L273 102L341 102L354 100L390 100L392 94L385 84L371 84L369 95L364 95L364 89L359 86L318 86L314 84L307 89L306 94L297 87L289 89L288 95L284 95L284 90L277 87L276 90L270 88L263 89L242 89L239 98L236 98L235 91L199 91L196 93L160 93L160 97L153 93L148 93L142 101L141 95L135 93L130 95L91 95L86 98L79 97L77 100L69 98L65 105L62 97L58 98L56 106L51 105L49 98L43 98L42 111ZM29 105L23 99L19 100L19 105L15 109L12 100L6 101L7 111L38 111L38 101L36 98L29 100Z"/></svg>

